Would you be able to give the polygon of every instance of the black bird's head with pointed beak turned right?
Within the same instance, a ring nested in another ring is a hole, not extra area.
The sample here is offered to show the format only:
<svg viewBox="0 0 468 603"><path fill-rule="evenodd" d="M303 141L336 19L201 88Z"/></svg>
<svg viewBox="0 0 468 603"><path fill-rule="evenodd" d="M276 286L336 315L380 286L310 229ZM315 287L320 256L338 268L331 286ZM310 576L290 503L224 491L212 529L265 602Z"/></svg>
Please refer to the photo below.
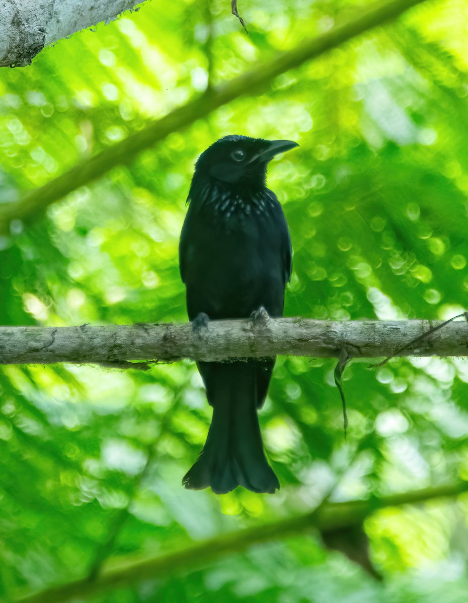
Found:
<svg viewBox="0 0 468 603"><path fill-rule="evenodd" d="M199 157L195 178L243 188L265 186L266 168L278 153L294 147L292 140L263 140L231 134L214 142Z"/></svg>

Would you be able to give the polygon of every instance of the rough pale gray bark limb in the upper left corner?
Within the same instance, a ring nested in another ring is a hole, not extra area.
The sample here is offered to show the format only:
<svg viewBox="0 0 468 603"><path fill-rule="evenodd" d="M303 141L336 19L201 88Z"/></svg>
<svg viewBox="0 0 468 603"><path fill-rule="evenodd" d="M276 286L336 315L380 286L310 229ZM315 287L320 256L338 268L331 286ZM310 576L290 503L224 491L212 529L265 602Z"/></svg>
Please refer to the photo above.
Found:
<svg viewBox="0 0 468 603"><path fill-rule="evenodd" d="M44 46L143 2L133 0L0 0L0 67L24 67Z"/></svg>

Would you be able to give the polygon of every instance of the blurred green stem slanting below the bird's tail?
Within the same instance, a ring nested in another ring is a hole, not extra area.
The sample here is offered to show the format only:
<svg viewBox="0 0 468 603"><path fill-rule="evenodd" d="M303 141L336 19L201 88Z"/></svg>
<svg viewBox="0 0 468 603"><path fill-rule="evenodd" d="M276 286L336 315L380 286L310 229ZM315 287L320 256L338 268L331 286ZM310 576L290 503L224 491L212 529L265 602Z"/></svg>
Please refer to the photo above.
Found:
<svg viewBox="0 0 468 603"><path fill-rule="evenodd" d="M136 581L159 577L166 578L166 576L173 573L187 572L196 567L204 566L210 561L219 560L225 555L244 551L252 545L296 534L304 534L305 531L311 528L328 532L340 528L359 526L371 513L385 507L417 504L441 497L454 497L467 491L468 482L460 482L381 498L375 497L370 500L325 503L311 513L264 523L234 534L211 538L164 557L120 560L118 567L104 570L94 581L89 579L77 580L64 586L43 590L34 595L23 596L16 599L16 601L17 603L55 603L75 598L81 599L103 590L128 586Z"/></svg>

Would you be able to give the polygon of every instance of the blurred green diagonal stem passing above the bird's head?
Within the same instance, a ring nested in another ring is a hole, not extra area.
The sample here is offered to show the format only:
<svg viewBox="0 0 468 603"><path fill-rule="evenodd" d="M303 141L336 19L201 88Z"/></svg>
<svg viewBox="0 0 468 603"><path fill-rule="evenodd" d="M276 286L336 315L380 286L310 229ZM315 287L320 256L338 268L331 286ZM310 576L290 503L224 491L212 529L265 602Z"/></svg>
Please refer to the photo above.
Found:
<svg viewBox="0 0 468 603"><path fill-rule="evenodd" d="M161 142L170 133L193 124L239 96L265 87L276 76L302 65L311 58L319 57L329 49L364 31L382 25L390 19L395 19L408 8L425 1L393 0L383 5L380 2L373 4L365 10L359 10L358 15L351 21L337 25L322 36L304 40L296 48L280 52L267 63L258 63L240 77L208 89L204 95L189 101L163 118L152 121L143 130L131 134L122 142L101 151L94 157L78 163L65 174L51 180L41 188L28 192L17 203L2 204L0 206L0 234L9 232L11 220L20 219L28 222L36 219L54 201L75 191L80 186L88 185L114 166L130 163L137 154L152 147L155 143Z"/></svg>

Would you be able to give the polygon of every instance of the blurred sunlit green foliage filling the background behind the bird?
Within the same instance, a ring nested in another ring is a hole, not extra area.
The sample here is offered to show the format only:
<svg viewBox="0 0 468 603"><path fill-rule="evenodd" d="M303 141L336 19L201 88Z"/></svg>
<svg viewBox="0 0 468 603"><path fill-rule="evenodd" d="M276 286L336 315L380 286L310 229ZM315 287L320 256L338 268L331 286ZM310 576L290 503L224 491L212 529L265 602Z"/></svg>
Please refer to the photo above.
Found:
<svg viewBox="0 0 468 603"><path fill-rule="evenodd" d="M2 69L0 200L361 4L249 0L239 10L248 36L225 0L147 2L28 68ZM467 24L465 0L423 2L170 134L33 225L13 221L13 236L0 238L0 324L186 320L177 247L190 177L198 154L231 133L301 145L268 178L295 251L285 315L440 319L466 309ZM0 596L305 513L326 496L467 478L466 360L351 364L346 440L333 370L323 359L278 359L260 420L281 490L215 496L181 486L211 415L193 363L147 373L4 367ZM369 517L383 583L312 531L92 600L466 601L466 511L462 496Z"/></svg>

